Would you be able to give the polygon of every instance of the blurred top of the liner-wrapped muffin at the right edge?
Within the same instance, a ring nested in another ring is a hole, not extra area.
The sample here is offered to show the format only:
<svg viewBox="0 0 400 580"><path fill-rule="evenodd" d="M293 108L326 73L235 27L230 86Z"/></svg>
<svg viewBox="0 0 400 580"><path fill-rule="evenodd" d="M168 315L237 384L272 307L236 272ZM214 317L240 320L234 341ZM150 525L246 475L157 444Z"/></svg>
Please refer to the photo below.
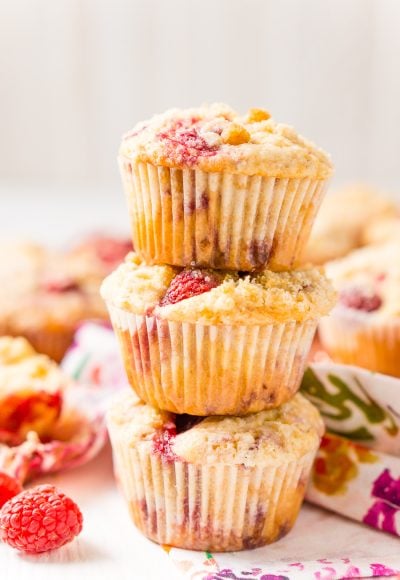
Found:
<svg viewBox="0 0 400 580"><path fill-rule="evenodd" d="M355 250L327 264L339 290L337 309L371 323L400 317L400 239Z"/></svg>

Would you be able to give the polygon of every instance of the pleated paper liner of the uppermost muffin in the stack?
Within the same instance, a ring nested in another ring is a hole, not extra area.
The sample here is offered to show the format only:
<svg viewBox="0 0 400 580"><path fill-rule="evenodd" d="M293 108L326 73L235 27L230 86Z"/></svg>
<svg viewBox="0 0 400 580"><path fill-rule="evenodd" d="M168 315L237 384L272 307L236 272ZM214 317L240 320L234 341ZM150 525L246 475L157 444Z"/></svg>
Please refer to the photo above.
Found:
<svg viewBox="0 0 400 580"><path fill-rule="evenodd" d="M146 261L251 271L299 261L326 181L170 169L119 159Z"/></svg>

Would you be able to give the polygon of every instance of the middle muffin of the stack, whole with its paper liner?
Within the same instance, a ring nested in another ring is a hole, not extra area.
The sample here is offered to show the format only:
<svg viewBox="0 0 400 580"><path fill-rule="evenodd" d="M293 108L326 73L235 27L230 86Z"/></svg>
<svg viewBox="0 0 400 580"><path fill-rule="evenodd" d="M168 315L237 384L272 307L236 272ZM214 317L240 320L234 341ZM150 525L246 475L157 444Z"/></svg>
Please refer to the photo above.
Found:
<svg viewBox="0 0 400 580"><path fill-rule="evenodd" d="M139 397L191 415L242 415L287 401L335 300L317 269L181 269L134 253L101 294Z"/></svg>

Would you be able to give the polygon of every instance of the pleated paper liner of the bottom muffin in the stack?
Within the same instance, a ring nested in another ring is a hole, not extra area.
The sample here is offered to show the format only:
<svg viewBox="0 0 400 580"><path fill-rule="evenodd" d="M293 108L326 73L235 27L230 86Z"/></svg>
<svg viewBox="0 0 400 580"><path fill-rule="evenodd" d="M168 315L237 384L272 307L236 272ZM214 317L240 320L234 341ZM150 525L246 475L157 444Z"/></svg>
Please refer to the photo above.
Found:
<svg viewBox="0 0 400 580"><path fill-rule="evenodd" d="M151 540L231 551L274 542L292 528L316 450L274 466L166 462L109 424L117 479L135 525Z"/></svg>

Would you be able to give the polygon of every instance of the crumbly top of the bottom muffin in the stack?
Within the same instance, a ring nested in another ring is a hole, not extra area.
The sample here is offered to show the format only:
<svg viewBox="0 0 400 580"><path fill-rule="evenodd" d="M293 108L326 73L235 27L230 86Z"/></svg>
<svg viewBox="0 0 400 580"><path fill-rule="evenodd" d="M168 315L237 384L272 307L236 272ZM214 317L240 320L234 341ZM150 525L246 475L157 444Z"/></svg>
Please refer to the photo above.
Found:
<svg viewBox="0 0 400 580"><path fill-rule="evenodd" d="M193 417L159 411L131 391L108 413L124 445L144 445L163 461L195 464L287 463L315 451L324 431L317 409L302 395L277 409L245 417Z"/></svg>

